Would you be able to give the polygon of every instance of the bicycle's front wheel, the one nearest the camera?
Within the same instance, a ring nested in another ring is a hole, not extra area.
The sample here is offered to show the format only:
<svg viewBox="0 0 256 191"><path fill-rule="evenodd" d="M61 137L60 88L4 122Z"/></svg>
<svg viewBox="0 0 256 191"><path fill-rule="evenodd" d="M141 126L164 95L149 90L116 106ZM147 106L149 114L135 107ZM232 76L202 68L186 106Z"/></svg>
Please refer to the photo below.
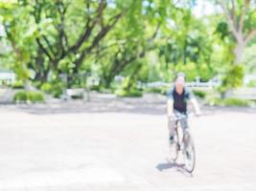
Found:
<svg viewBox="0 0 256 191"><path fill-rule="evenodd" d="M193 138L189 132L185 132L184 141L183 157L185 161L185 169L187 172L192 173L196 166L196 151Z"/></svg>

